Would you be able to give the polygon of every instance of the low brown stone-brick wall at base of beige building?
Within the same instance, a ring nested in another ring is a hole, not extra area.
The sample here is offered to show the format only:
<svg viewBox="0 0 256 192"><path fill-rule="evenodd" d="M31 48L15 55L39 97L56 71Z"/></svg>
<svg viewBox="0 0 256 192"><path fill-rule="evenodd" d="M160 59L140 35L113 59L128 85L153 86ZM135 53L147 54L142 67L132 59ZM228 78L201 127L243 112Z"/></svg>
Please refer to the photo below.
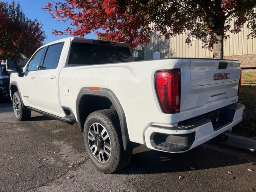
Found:
<svg viewBox="0 0 256 192"><path fill-rule="evenodd" d="M240 67L256 67L256 54L224 56L224 59L239 60Z"/></svg>

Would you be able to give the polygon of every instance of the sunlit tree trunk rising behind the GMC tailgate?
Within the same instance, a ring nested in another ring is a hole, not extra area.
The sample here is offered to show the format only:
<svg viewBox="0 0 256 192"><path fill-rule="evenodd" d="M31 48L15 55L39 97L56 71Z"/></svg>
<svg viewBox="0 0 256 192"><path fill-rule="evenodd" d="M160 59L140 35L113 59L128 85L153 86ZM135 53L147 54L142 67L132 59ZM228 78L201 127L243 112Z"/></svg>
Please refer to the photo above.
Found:
<svg viewBox="0 0 256 192"><path fill-rule="evenodd" d="M223 59L224 30L213 32L213 58Z"/></svg>

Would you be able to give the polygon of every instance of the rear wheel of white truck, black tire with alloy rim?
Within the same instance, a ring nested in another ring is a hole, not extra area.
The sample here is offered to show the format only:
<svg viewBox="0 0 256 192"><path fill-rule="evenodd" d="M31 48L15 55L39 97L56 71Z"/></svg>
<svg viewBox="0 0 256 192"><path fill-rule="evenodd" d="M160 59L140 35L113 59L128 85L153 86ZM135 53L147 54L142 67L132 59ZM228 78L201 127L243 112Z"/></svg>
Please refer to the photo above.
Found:
<svg viewBox="0 0 256 192"><path fill-rule="evenodd" d="M92 164L104 173L124 168L132 158L132 150L124 150L115 110L99 110L88 116L84 124L84 143Z"/></svg>

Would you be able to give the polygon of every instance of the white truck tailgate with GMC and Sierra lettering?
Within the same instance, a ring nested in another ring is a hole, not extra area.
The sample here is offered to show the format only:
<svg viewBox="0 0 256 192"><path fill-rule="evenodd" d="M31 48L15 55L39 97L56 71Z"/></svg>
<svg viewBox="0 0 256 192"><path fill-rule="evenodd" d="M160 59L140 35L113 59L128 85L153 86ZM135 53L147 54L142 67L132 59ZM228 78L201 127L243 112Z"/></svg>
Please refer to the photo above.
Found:
<svg viewBox="0 0 256 192"><path fill-rule="evenodd" d="M180 121L238 101L239 61L190 59L183 71Z"/></svg>

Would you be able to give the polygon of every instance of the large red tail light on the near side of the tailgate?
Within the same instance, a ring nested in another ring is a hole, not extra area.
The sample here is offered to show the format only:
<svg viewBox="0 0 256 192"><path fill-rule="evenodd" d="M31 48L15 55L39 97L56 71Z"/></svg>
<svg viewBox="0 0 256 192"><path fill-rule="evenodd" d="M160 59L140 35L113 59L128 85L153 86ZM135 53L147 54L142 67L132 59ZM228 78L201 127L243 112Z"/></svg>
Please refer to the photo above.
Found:
<svg viewBox="0 0 256 192"><path fill-rule="evenodd" d="M180 111L180 69L157 71L155 89L162 112Z"/></svg>

